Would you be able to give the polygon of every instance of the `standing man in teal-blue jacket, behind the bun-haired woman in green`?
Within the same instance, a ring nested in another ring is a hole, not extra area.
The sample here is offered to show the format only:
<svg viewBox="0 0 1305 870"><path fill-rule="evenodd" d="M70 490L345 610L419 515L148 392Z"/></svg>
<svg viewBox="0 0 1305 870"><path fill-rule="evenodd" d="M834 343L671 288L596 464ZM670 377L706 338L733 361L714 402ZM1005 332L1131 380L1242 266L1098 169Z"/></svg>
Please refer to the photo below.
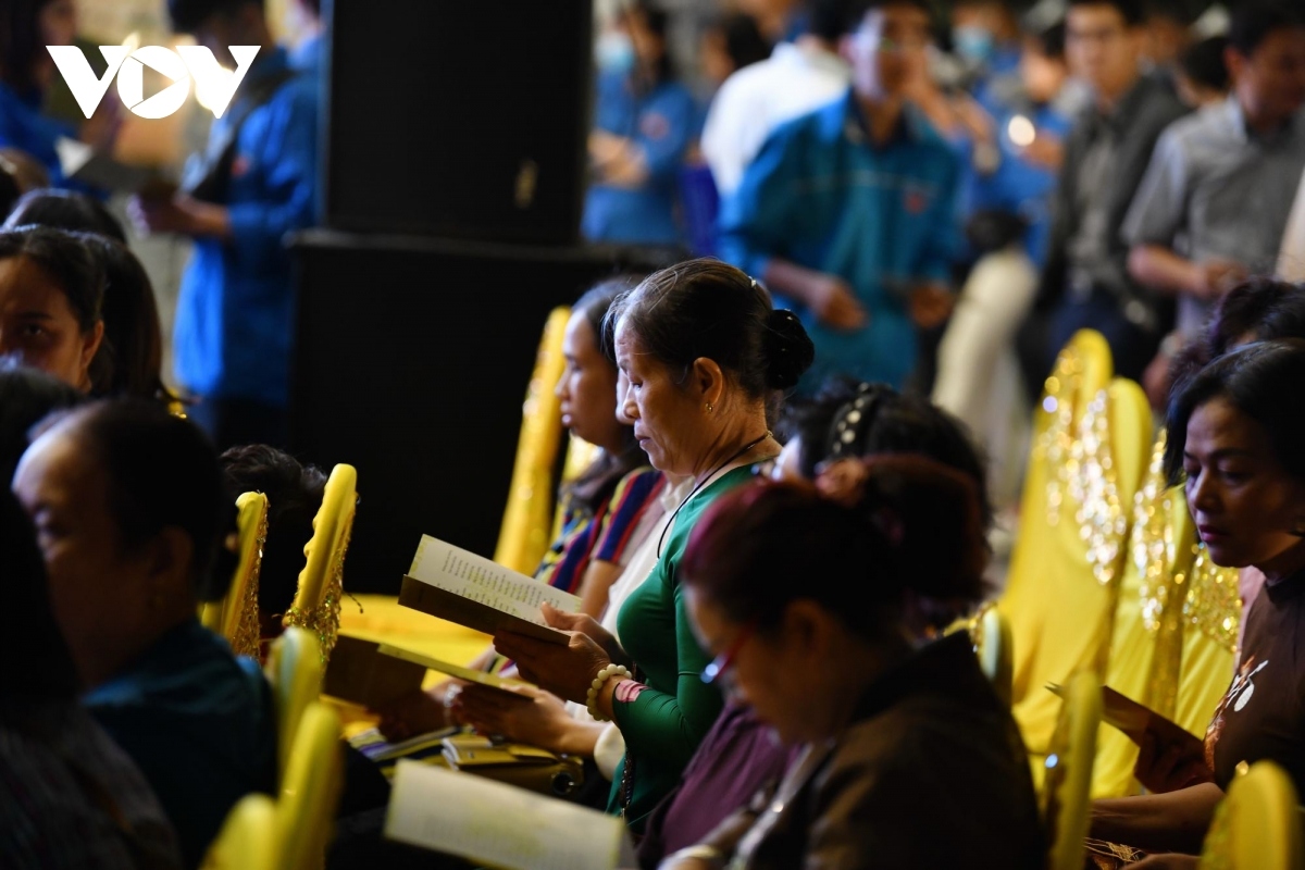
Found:
<svg viewBox="0 0 1305 870"><path fill-rule="evenodd" d="M801 312L827 376L902 386L916 327L950 313L960 167L907 104L925 74L923 3L852 4L839 51L852 67L842 99L780 127L722 206L722 253Z"/></svg>

